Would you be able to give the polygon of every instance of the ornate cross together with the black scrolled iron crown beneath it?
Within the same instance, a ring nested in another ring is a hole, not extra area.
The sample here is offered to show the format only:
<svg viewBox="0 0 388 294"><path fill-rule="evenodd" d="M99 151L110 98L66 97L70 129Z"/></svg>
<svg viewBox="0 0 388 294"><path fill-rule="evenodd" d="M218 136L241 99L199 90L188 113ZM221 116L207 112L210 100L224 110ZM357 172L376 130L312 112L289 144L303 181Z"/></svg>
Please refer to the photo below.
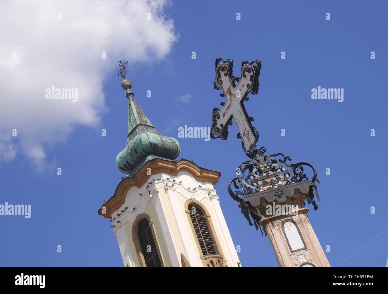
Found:
<svg viewBox="0 0 388 294"><path fill-rule="evenodd" d="M256 230L260 227L260 217L265 217L258 210L261 197L268 202L284 202L291 198L291 202L296 204L293 196L294 189L298 188L306 195L307 203L312 203L314 210L318 209L314 197L316 196L320 202L315 184L315 182L319 183L319 180L312 165L306 162L291 164L289 156L282 153L265 155L267 151L265 147L256 148L259 133L252 125L251 122L254 119L248 117L243 102L248 101L248 93L258 93L261 65L260 60L243 61L241 77L236 77L233 75L233 60L216 59L214 88L222 89L223 93L220 96L225 97L226 102L221 103L221 110L217 107L213 108L211 125L211 138L226 140L232 118L236 122L239 131L237 138L242 139L242 149L249 160L240 163L237 167L239 177L229 182L228 192L239 202L241 213L248 220L249 225L255 225ZM311 168L310 177L305 174L304 167ZM232 189L232 184L236 188L235 191ZM252 211L257 211L257 214ZM253 218L253 224L250 217Z"/></svg>

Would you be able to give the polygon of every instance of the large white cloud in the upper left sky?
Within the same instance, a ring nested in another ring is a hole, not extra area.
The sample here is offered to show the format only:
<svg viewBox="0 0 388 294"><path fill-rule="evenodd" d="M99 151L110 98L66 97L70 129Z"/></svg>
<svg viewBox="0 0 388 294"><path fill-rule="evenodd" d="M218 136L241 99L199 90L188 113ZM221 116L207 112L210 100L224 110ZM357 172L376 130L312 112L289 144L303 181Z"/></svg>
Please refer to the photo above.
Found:
<svg viewBox="0 0 388 294"><path fill-rule="evenodd" d="M46 158L47 148L66 141L78 125L96 127L106 109L102 81L116 72L117 60L129 60L128 67L159 60L177 40L165 5L165 0L0 2L0 160L20 152L43 169L53 160ZM46 100L45 89L52 86L78 89L78 101Z"/></svg>

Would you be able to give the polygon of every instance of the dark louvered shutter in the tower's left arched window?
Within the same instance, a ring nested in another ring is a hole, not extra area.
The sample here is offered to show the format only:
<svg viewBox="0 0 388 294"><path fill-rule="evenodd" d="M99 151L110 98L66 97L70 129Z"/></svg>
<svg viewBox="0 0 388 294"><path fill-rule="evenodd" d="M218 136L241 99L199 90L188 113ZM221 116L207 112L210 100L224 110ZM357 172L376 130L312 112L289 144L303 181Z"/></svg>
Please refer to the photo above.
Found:
<svg viewBox="0 0 388 294"><path fill-rule="evenodd" d="M140 222L139 228L137 229L137 235L139 236L140 247L144 256L145 265L147 267L161 267L162 265L158 249L156 249L155 240L152 236L151 227L149 226L147 219ZM151 248L151 252L147 252L150 251L149 248Z"/></svg>

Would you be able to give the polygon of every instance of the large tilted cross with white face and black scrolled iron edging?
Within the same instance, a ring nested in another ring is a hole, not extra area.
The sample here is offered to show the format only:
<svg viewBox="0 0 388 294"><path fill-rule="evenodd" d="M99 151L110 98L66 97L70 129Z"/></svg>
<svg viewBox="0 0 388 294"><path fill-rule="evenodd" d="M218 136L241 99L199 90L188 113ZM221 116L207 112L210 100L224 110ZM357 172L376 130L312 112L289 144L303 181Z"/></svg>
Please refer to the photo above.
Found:
<svg viewBox="0 0 388 294"><path fill-rule="evenodd" d="M222 63L220 63L222 62ZM215 62L216 77L214 82L215 89L222 89L220 96L226 98L222 102L222 109L213 108L213 124L211 126L211 138L228 137L228 126L232 124L232 118L236 122L239 133L237 138L242 138L242 144L245 150L251 150L256 147L258 132L252 126L253 117L248 117L243 101L248 100L248 93L257 94L259 89L259 75L261 61L253 62L243 61L241 64L241 77L233 76L233 60L223 60L217 58ZM235 82L237 81L237 85Z"/></svg>

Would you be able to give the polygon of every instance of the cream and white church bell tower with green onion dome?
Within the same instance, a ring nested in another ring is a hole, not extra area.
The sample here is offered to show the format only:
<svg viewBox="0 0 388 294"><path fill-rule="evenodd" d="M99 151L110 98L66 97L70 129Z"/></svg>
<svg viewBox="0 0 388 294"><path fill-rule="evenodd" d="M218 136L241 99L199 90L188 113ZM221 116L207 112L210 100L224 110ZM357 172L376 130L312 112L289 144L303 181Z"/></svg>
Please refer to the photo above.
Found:
<svg viewBox="0 0 388 294"><path fill-rule="evenodd" d="M98 212L111 219L123 264L237 266L239 258L214 188L220 172L175 160L178 141L156 130L135 101L132 83L122 76L128 133L116 164L127 177Z"/></svg>

